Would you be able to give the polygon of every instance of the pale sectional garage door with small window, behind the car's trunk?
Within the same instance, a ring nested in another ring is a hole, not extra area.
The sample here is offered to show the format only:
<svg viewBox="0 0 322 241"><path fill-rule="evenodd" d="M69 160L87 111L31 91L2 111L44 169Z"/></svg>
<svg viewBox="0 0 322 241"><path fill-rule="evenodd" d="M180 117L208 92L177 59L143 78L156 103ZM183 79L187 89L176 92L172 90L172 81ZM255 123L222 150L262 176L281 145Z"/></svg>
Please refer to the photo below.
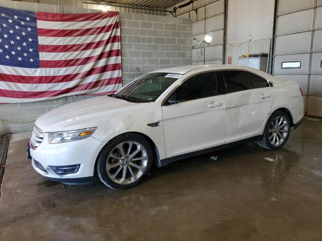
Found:
<svg viewBox="0 0 322 241"><path fill-rule="evenodd" d="M297 82L305 112L322 116L322 1L279 0L275 21L273 73Z"/></svg>

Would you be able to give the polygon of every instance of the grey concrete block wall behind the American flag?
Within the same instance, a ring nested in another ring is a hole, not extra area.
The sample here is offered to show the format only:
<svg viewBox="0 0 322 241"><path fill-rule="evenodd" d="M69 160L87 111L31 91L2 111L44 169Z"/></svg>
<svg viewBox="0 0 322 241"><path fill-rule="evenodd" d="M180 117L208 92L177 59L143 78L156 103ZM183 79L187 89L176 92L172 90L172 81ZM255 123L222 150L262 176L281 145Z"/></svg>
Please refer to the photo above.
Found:
<svg viewBox="0 0 322 241"><path fill-rule="evenodd" d="M55 3L53 1L53 4ZM49 13L90 13L99 11L77 8L74 5L58 6L7 0L0 0L0 7ZM146 73L160 68L191 64L191 20L120 13L120 23L123 84L141 75L136 67L141 72ZM34 119L43 113L54 107L91 97L94 96L68 96L28 103L0 103L0 135L30 132L34 126Z"/></svg>

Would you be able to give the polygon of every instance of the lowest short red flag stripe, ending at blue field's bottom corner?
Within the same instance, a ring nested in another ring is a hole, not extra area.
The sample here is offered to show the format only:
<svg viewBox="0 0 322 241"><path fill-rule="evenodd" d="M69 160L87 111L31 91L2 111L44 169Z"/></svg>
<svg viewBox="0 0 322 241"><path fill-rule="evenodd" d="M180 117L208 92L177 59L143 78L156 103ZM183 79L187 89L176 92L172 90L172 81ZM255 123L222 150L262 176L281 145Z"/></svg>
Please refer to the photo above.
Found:
<svg viewBox="0 0 322 241"><path fill-rule="evenodd" d="M78 65L85 65L92 62L96 62L101 59L121 56L120 49L114 49L102 52L98 55L94 55L91 57L79 58L79 59L65 59L65 60L40 60L41 68L63 68L63 67L71 67Z"/></svg>

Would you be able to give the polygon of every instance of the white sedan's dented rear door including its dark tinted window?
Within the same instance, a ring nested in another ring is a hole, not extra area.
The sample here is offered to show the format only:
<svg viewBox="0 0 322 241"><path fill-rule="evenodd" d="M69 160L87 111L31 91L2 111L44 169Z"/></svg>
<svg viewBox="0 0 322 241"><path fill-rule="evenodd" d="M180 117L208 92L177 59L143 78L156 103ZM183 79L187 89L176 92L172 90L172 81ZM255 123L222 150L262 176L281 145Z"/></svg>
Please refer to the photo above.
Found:
<svg viewBox="0 0 322 241"><path fill-rule="evenodd" d="M273 90L269 82L248 71L221 71L227 86L225 143L260 135L271 110Z"/></svg>

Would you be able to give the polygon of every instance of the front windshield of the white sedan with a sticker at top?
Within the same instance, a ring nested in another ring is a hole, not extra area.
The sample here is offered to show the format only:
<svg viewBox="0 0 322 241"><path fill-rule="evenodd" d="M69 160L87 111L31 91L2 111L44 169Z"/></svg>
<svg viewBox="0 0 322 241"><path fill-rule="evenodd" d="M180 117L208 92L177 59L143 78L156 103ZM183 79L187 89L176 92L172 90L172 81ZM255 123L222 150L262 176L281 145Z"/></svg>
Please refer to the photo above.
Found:
<svg viewBox="0 0 322 241"><path fill-rule="evenodd" d="M111 95L130 102L153 102L182 74L147 73Z"/></svg>

